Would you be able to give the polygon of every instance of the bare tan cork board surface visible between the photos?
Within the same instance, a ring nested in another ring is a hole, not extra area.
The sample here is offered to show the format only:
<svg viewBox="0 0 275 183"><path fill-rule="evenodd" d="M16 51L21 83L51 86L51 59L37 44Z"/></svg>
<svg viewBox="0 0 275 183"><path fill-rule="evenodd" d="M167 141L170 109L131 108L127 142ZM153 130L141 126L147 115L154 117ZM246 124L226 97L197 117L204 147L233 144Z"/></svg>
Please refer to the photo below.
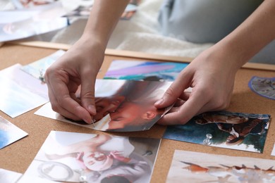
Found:
<svg viewBox="0 0 275 183"><path fill-rule="evenodd" d="M7 68L15 63L25 65L32 63L40 58L54 53L56 49L38 48L32 46L20 46L14 44L4 44L0 47L0 70ZM142 53L141 53L142 54ZM102 78L104 73L109 68L111 61L121 60L151 60L154 58L130 58L123 56L105 56L102 70L99 72L98 78ZM228 111L238 113L267 113L271 115L271 122L269 125L269 132L267 134L267 141L264 146L263 153L250 153L247 151L237 151L231 149L221 149L212 146L203 146L199 144L190 144L181 141L173 141L169 139L161 139L157 161L154 166L154 172L151 182L165 182L168 175L171 160L173 158L174 150L197 151L202 153L214 153L228 156L246 156L252 158L266 158L275 160L275 156L270 156L275 142L275 101L258 96L250 90L248 82L252 76L259 77L274 77L275 71L272 70L257 70L257 69L240 69L236 75L236 82L231 99L231 106ZM81 133L104 133L96 130L71 125L65 122L59 122L35 115L38 108L18 116L17 118L10 118L8 115L0 111L0 115L14 125L20 127L29 135L15 143L6 146L0 150L0 168L24 173L28 166L35 158L37 151L44 143L51 130L64 132L81 132ZM121 135L127 137L150 137L161 138L166 127L154 125L150 130L145 132L116 132L114 135Z"/></svg>

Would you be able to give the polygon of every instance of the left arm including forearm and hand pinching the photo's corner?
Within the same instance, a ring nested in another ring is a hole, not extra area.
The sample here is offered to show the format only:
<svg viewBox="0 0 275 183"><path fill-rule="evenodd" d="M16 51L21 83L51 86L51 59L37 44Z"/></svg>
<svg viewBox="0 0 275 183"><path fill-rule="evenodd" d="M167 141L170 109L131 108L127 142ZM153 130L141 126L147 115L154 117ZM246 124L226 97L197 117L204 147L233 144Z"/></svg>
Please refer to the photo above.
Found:
<svg viewBox="0 0 275 183"><path fill-rule="evenodd" d="M47 70L49 100L57 113L89 124L94 121L94 82L111 32L127 4L128 0L94 1L82 37ZM75 92L80 84L79 100Z"/></svg>

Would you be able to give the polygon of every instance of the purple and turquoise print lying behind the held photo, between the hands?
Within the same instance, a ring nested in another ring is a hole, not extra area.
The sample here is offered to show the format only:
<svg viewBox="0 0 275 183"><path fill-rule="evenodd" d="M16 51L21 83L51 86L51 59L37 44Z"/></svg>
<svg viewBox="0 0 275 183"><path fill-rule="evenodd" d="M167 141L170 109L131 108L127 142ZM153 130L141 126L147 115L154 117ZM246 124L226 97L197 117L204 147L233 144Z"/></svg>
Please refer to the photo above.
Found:
<svg viewBox="0 0 275 183"><path fill-rule="evenodd" d="M112 61L104 79L174 81L188 63Z"/></svg>

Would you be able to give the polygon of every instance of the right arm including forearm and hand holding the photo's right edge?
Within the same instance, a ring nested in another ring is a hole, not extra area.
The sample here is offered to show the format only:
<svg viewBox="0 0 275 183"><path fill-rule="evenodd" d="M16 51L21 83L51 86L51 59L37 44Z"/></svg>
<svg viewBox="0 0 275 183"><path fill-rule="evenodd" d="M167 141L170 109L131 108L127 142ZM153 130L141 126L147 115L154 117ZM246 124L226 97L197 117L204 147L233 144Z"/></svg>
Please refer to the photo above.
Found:
<svg viewBox="0 0 275 183"><path fill-rule="evenodd" d="M275 39L274 18L275 1L265 0L236 30L197 56L155 106L169 106L177 98L186 102L159 123L185 124L194 115L227 108L238 69ZM184 92L188 87L193 87L190 94Z"/></svg>

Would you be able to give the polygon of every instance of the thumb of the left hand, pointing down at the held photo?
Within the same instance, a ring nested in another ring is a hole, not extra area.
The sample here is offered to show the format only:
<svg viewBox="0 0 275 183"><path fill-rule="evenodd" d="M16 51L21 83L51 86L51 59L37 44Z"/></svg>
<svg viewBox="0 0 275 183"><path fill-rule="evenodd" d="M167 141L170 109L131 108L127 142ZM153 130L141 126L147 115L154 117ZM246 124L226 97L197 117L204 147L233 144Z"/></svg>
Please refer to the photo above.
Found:
<svg viewBox="0 0 275 183"><path fill-rule="evenodd" d="M90 115L97 113L94 103L94 84L95 80L87 80L87 77L81 82L81 103Z"/></svg>

